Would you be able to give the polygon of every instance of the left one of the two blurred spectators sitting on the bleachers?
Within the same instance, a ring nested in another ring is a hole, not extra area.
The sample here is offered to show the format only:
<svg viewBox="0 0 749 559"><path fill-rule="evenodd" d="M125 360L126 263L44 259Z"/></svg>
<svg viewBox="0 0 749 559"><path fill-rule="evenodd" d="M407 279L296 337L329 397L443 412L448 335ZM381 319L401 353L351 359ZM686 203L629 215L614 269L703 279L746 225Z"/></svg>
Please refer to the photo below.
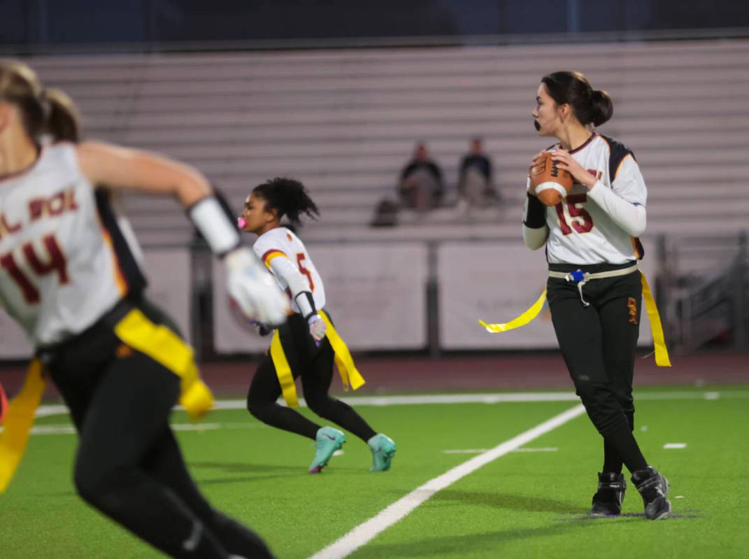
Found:
<svg viewBox="0 0 749 559"><path fill-rule="evenodd" d="M444 194L442 171L429 159L425 143L418 142L413 160L401 172L398 193L404 208L428 211L440 205Z"/></svg>

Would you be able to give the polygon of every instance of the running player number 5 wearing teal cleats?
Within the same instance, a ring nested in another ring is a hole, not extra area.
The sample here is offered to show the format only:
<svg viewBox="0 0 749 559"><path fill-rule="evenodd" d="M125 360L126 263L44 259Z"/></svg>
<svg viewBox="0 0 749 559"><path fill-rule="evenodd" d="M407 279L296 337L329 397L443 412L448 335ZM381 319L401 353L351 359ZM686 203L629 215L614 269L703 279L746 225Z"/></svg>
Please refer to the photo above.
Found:
<svg viewBox="0 0 749 559"><path fill-rule="evenodd" d="M294 314L274 333L280 342L280 353L284 355L274 353L271 345L270 354L261 360L252 378L247 409L268 425L315 441L315 458L309 465L311 473L318 473L327 465L333 452L345 442L345 435L333 427L321 427L276 402L282 394L283 375L279 375L279 368L285 369L284 360L288 361L289 376L302 378L309 408L365 441L372 450L370 469L386 471L395 454L392 439L377 434L351 406L328 394L338 350L326 336L324 318L330 321L330 316L324 310L325 287L302 241L290 229L281 226L282 218L298 225L302 214L318 215L318 208L303 185L288 178L274 178L252 190L240 218L244 231L258 235L253 247L255 254L287 291L294 309ZM287 382L293 385L293 379L288 378Z"/></svg>

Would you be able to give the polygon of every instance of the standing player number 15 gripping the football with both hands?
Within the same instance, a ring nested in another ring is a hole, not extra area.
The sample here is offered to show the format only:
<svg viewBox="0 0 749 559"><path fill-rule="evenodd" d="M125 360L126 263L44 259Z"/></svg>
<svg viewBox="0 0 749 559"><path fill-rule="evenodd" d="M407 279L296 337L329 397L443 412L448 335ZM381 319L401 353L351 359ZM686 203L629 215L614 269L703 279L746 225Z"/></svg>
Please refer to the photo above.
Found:
<svg viewBox="0 0 749 559"><path fill-rule="evenodd" d="M533 250L546 247L548 303L560 350L577 395L604 439L591 513L621 512L623 463L643 498L646 517L664 518L670 513L667 480L648 465L632 434L642 304L637 259L643 253L637 237L646 225L645 182L632 151L595 132L593 127L613 115L613 103L583 74L544 76L532 115L539 136L559 140L547 151L574 179L556 207L542 205L529 188L523 238Z"/></svg>

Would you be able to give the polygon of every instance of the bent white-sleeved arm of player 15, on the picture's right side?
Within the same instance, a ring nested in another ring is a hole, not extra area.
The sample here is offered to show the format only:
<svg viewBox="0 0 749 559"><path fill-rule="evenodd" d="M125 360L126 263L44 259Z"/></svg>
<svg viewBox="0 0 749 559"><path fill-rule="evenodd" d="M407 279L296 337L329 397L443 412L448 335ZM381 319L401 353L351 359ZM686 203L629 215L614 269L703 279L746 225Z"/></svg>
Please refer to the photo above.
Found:
<svg viewBox="0 0 749 559"><path fill-rule="evenodd" d="M628 235L639 237L645 232L647 188L640 166L631 154L619 164L610 188L601 181L595 181L592 186L586 184L586 187L589 188L588 198Z"/></svg>

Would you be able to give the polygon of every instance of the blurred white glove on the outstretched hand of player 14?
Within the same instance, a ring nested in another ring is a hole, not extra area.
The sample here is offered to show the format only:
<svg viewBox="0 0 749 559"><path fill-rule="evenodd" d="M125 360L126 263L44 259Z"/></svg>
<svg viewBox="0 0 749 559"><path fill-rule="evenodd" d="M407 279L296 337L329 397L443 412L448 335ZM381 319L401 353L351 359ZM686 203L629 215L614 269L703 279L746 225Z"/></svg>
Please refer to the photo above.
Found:
<svg viewBox="0 0 749 559"><path fill-rule="evenodd" d="M291 312L289 300L276 280L247 247L232 250L224 258L229 295L247 318L277 326Z"/></svg>

